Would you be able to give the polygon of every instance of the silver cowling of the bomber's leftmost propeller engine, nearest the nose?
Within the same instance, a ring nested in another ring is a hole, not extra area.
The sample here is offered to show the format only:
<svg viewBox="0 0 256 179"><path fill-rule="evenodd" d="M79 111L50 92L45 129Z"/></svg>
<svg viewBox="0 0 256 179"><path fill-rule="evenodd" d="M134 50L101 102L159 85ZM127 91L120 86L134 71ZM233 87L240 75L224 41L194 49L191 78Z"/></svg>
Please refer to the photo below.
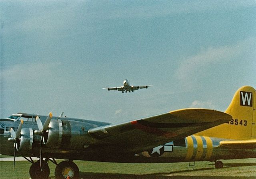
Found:
<svg viewBox="0 0 256 179"><path fill-rule="evenodd" d="M20 132L20 140L17 142L16 149L22 155L30 155L32 151L32 143L34 138L34 133L32 128L24 128Z"/></svg>

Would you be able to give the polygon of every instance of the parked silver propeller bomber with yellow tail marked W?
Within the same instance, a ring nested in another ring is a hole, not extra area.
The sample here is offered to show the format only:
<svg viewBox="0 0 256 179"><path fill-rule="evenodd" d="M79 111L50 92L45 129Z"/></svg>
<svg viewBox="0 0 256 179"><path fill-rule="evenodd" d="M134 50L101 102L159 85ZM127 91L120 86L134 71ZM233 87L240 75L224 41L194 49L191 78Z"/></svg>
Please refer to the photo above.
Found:
<svg viewBox="0 0 256 179"><path fill-rule="evenodd" d="M220 160L256 158L255 108L256 90L244 86L225 112L180 109L120 124L17 113L0 120L0 153L13 155L14 166L16 156L30 161L32 179L48 178L49 161L56 164L56 179L79 177L73 160L210 161L222 168Z"/></svg>

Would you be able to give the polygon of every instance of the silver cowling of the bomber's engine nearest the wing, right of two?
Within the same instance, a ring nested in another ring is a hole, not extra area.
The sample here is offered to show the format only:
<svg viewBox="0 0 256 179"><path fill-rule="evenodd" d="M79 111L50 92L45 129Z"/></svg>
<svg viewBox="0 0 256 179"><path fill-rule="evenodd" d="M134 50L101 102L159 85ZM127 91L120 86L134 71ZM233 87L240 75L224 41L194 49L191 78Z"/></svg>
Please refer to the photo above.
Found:
<svg viewBox="0 0 256 179"><path fill-rule="evenodd" d="M46 147L60 148L62 132L62 121L60 119L51 120L48 126L48 131L43 135L43 142L46 144Z"/></svg>

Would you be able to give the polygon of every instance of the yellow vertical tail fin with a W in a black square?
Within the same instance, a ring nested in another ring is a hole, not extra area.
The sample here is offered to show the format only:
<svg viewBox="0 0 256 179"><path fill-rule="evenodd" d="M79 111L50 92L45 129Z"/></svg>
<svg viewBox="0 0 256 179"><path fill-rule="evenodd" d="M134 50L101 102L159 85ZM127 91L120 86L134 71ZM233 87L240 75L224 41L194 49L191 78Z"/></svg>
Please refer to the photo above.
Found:
<svg viewBox="0 0 256 179"><path fill-rule="evenodd" d="M249 86L243 86L236 91L225 111L232 116L232 120L196 135L234 140L256 140L255 108L256 90Z"/></svg>

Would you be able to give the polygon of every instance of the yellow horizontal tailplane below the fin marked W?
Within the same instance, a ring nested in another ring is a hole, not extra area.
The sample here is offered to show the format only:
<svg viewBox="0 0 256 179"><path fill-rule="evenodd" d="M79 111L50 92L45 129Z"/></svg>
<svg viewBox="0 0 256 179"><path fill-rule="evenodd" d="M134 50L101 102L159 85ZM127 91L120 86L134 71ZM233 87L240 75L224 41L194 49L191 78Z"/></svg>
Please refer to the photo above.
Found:
<svg viewBox="0 0 256 179"><path fill-rule="evenodd" d="M221 141L220 147L235 149L256 149L256 140L227 140Z"/></svg>

